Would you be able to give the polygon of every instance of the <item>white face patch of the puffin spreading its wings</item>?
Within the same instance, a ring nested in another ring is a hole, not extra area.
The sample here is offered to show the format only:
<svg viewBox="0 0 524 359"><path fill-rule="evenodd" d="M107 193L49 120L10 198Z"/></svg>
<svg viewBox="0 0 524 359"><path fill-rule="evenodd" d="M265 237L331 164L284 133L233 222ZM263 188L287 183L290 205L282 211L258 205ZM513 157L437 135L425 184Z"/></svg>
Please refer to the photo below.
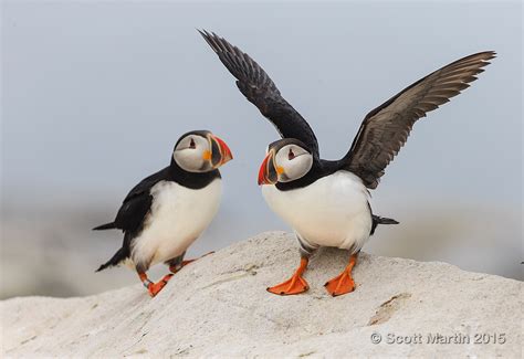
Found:
<svg viewBox="0 0 524 359"><path fill-rule="evenodd" d="M282 168L279 182L290 182L304 177L313 166L313 156L297 145L282 147L275 155L275 165Z"/></svg>

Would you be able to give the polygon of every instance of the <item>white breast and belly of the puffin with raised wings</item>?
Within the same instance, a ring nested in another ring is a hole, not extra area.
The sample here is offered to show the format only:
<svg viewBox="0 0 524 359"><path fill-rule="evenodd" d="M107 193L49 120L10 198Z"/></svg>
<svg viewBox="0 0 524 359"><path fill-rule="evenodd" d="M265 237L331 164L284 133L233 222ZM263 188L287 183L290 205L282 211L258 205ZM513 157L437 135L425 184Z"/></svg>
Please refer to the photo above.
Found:
<svg viewBox="0 0 524 359"><path fill-rule="evenodd" d="M301 189L263 186L270 208L313 246L360 249L369 237L369 193L361 180L338 171Z"/></svg>

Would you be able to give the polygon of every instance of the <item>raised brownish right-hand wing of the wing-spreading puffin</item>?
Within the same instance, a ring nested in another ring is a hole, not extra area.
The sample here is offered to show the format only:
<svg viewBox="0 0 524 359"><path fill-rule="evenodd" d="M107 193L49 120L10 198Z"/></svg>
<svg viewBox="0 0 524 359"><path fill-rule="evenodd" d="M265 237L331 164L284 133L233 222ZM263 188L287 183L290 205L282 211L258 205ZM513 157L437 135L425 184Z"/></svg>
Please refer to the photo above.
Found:
<svg viewBox="0 0 524 359"><path fill-rule="evenodd" d="M476 80L493 51L458 60L405 88L365 118L352 148L340 167L360 177L367 188L375 189L388 163L408 139L413 124L426 113L457 96Z"/></svg>

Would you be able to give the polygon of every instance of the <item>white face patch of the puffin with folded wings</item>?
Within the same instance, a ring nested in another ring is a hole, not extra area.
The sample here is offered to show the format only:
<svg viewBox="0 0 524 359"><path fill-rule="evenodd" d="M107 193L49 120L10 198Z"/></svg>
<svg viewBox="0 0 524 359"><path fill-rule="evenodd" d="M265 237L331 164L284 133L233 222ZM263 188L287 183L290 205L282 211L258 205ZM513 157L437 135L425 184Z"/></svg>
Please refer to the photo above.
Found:
<svg viewBox="0 0 524 359"><path fill-rule="evenodd" d="M207 138L188 135L178 142L172 152L172 158L178 166L188 172L206 172L211 169L209 160L205 159L206 151L211 151Z"/></svg>

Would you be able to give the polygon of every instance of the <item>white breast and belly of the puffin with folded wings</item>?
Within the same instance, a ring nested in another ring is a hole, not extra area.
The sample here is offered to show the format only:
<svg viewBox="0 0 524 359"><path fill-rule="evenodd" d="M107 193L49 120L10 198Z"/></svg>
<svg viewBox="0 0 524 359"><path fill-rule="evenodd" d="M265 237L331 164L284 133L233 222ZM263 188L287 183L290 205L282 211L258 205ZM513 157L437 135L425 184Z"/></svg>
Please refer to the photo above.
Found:
<svg viewBox="0 0 524 359"><path fill-rule="evenodd" d="M160 181L151 188L153 203L144 231L134 240L132 260L146 267L182 254L217 214L220 179L202 189Z"/></svg>

